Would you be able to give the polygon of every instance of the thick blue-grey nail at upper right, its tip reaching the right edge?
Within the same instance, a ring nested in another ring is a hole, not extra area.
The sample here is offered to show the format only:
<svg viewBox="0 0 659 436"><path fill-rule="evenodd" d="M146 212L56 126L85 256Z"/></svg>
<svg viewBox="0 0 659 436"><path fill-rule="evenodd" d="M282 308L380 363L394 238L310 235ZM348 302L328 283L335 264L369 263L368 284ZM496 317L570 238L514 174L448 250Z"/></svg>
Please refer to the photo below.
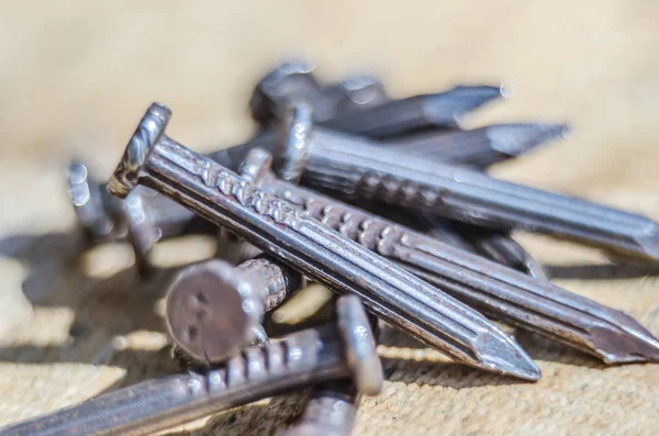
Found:
<svg viewBox="0 0 659 436"><path fill-rule="evenodd" d="M378 199L496 230L520 228L659 260L659 223L574 197L498 180L481 172L390 152L380 143L310 128L298 105L279 168L288 180L360 199ZM304 132L304 134L300 134ZM286 147L294 145L292 153ZM289 161L288 159L298 159ZM277 161L277 160L276 160ZM294 169L300 169L295 174Z"/></svg>

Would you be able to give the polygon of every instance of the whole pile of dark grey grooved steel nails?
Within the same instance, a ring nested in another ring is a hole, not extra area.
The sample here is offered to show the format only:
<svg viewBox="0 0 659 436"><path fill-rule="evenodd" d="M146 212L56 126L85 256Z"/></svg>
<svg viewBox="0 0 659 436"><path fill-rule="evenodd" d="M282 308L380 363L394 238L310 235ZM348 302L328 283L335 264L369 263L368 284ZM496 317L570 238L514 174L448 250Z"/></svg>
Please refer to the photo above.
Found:
<svg viewBox="0 0 659 436"><path fill-rule="evenodd" d="M182 267L168 288L183 368L2 435L150 434L308 388L305 412L283 434L348 435L360 395L382 387L381 325L529 381L540 371L493 321L607 365L659 360L659 340L637 321L550 283L511 237L536 232L651 265L659 224L488 176L567 132L461 127L502 94L458 86L396 100L375 77L325 85L312 66L288 62L254 90L256 137L210 155L167 136L171 112L152 104L109 182L75 161L69 192L88 241L130 241L145 276L159 239L216 235L217 256ZM336 293L333 314L271 337L264 316L310 281Z"/></svg>

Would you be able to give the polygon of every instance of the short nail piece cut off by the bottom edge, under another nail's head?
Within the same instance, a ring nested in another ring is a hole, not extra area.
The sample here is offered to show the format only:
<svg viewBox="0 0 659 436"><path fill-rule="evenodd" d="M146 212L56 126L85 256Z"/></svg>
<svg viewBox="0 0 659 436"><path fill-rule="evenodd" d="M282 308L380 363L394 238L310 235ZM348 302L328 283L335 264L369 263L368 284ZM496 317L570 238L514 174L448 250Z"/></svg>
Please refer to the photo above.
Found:
<svg viewBox="0 0 659 436"><path fill-rule="evenodd" d="M304 413L279 436L350 436L359 395L350 380L337 380L313 388Z"/></svg>

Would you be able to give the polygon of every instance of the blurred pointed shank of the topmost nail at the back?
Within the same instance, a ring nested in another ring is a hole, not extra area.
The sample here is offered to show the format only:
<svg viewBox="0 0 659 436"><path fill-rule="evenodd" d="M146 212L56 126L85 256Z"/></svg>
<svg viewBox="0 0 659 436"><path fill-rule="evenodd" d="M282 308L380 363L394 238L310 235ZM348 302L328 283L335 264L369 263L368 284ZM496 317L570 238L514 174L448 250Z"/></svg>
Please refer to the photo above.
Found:
<svg viewBox="0 0 659 436"><path fill-rule="evenodd" d="M324 125L375 138L428 127L454 128L463 115L503 94L501 87L459 86L446 92L391 100L364 111L336 114Z"/></svg>

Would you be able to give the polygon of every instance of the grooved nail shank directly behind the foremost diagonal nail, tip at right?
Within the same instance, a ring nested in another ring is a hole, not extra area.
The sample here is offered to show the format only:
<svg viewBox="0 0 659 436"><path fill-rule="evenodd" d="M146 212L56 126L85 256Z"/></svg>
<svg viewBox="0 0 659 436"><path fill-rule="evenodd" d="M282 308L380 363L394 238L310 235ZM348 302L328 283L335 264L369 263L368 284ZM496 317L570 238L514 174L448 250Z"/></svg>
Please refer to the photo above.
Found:
<svg viewBox="0 0 659 436"><path fill-rule="evenodd" d="M260 186L490 317L606 364L659 360L659 340L626 313L273 176Z"/></svg>

